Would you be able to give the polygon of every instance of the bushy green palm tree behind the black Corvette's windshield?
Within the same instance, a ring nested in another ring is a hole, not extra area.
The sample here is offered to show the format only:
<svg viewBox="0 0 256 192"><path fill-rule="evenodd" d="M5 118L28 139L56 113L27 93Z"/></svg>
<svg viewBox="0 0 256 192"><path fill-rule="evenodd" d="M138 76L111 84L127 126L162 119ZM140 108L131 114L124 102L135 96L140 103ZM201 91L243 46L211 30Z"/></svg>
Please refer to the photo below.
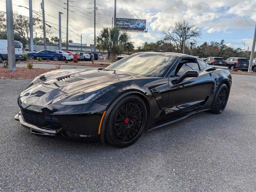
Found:
<svg viewBox="0 0 256 192"><path fill-rule="evenodd" d="M133 49L133 43L129 42L127 32L121 32L119 27L103 27L100 35L96 37L96 49L110 51L111 62L116 60L116 55L124 50Z"/></svg>

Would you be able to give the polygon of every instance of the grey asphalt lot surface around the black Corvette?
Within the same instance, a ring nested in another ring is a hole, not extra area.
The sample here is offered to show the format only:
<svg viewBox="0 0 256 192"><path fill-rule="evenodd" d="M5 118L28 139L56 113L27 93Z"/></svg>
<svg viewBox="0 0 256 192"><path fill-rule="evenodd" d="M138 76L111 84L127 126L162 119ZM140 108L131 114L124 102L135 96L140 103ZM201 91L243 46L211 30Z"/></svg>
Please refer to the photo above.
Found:
<svg viewBox="0 0 256 192"><path fill-rule="evenodd" d="M232 74L225 111L115 148L35 136L14 120L30 80L0 80L0 191L256 191L256 76Z"/></svg>

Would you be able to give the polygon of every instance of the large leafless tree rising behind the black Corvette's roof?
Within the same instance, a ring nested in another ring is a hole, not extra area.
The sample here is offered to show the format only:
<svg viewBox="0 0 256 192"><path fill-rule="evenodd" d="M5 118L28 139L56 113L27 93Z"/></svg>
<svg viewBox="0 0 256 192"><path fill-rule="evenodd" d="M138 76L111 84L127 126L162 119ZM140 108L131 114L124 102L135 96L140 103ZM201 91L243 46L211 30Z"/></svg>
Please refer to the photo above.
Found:
<svg viewBox="0 0 256 192"><path fill-rule="evenodd" d="M175 22L167 30L162 31L162 34L164 41L173 42L177 52L183 52L184 42L187 40L196 41L197 38L201 37L201 30L184 19Z"/></svg>

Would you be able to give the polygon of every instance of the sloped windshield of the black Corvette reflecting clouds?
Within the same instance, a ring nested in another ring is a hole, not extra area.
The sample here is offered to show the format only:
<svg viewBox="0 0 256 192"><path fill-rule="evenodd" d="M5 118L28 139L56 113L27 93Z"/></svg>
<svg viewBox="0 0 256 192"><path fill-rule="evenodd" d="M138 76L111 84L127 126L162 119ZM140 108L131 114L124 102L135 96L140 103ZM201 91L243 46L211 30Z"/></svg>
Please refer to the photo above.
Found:
<svg viewBox="0 0 256 192"><path fill-rule="evenodd" d="M172 67L177 57L157 54L130 55L106 67L106 70L116 70L149 76L163 76Z"/></svg>

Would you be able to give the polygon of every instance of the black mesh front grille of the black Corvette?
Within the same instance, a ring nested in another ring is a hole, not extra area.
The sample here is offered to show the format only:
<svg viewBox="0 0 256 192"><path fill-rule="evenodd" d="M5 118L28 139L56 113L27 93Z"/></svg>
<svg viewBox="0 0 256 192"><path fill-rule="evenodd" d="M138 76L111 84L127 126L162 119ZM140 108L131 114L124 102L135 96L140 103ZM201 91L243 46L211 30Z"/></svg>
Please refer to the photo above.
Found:
<svg viewBox="0 0 256 192"><path fill-rule="evenodd" d="M46 129L52 129L52 130L59 130L61 128L61 124L59 120L52 115L30 111L23 108L21 108L21 114L22 114L23 120L26 123L35 125L37 127L42 127Z"/></svg>

